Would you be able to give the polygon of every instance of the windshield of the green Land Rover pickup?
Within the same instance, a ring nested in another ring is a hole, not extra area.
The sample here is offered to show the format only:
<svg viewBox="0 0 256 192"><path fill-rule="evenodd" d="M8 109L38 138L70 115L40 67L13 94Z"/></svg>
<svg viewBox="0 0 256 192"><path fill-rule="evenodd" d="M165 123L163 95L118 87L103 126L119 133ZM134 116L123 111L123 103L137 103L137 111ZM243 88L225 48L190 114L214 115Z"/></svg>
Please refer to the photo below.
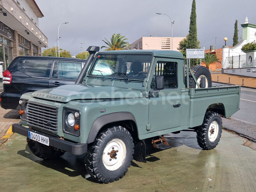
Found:
<svg viewBox="0 0 256 192"><path fill-rule="evenodd" d="M143 80L148 75L152 55L110 55L100 54L89 72L90 76L104 79L123 78Z"/></svg>

